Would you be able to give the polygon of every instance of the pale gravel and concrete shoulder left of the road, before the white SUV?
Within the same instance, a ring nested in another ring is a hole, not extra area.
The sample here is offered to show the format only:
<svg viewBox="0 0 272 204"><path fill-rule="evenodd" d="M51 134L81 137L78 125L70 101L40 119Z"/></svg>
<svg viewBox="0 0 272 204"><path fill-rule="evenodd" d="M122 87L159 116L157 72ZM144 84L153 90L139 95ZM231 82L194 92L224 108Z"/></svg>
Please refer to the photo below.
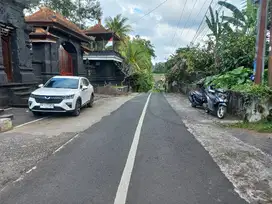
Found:
<svg viewBox="0 0 272 204"><path fill-rule="evenodd" d="M110 97L110 100L101 96L93 108L83 109L79 117L53 116L0 133L0 191L79 132L110 115L136 95Z"/></svg>

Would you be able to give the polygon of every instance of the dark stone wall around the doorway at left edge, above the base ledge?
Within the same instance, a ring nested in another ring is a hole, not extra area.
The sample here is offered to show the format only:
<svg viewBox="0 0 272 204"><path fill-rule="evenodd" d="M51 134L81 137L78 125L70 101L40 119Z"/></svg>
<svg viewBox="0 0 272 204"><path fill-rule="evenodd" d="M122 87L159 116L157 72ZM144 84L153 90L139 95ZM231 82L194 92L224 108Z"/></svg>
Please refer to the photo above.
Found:
<svg viewBox="0 0 272 204"><path fill-rule="evenodd" d="M0 23L10 26L11 58L13 70L13 82L33 82L36 80L31 64L31 49L29 44L30 28L24 21L24 1L1 0ZM0 84L8 83L5 68L3 66L2 43L0 40Z"/></svg>

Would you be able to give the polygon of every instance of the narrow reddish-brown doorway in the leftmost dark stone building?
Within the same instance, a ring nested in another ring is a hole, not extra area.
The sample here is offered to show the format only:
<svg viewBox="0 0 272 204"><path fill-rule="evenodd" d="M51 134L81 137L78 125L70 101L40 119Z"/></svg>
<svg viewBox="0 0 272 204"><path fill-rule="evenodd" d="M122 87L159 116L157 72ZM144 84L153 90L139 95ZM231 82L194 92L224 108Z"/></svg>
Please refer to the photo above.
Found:
<svg viewBox="0 0 272 204"><path fill-rule="evenodd" d="M2 41L2 55L3 55L3 65L5 67L5 72L7 74L8 81L13 80L13 70L12 70L12 58L11 58L11 36L1 35Z"/></svg>

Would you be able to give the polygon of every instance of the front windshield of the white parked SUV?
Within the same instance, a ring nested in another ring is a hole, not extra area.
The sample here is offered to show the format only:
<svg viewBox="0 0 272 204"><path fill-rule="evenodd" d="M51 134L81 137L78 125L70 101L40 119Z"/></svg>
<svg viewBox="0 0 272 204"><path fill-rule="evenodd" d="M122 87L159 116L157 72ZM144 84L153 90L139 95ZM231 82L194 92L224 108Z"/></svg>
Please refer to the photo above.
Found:
<svg viewBox="0 0 272 204"><path fill-rule="evenodd" d="M72 78L52 78L45 85L45 88L77 89L78 79Z"/></svg>

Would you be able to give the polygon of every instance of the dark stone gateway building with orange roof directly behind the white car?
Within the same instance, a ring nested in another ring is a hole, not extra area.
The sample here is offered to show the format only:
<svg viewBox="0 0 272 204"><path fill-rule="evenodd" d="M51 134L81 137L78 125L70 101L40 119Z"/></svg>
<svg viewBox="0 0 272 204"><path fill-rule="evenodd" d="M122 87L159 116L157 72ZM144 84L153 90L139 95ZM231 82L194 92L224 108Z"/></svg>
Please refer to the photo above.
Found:
<svg viewBox="0 0 272 204"><path fill-rule="evenodd" d="M30 40L33 48L33 68L40 82L54 75L86 76L84 52L90 49L91 38L61 14L42 7L25 18L33 27Z"/></svg>

